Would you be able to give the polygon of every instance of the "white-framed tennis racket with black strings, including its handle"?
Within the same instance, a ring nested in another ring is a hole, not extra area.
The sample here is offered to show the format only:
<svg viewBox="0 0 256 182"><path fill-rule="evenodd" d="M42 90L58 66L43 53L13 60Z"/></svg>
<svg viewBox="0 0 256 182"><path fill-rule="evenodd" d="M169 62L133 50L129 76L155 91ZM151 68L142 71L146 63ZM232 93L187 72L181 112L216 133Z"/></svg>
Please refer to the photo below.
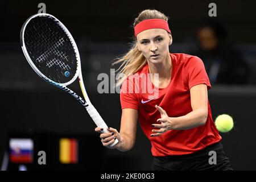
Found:
<svg viewBox="0 0 256 182"><path fill-rule="evenodd" d="M23 53L36 73L49 84L71 94L88 111L90 117L103 133L108 126L94 108L82 81L79 50L71 33L57 18L50 14L36 14L26 20L20 32ZM83 100L67 88L78 77ZM114 146L115 142L111 145Z"/></svg>

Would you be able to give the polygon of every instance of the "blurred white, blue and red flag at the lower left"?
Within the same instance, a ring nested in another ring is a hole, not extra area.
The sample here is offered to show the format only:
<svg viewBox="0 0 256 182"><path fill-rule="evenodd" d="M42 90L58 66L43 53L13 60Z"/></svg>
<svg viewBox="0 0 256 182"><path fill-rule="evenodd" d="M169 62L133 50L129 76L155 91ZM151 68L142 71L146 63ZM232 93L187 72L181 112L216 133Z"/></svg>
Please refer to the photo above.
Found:
<svg viewBox="0 0 256 182"><path fill-rule="evenodd" d="M28 138L12 138L9 141L10 162L32 163L34 143Z"/></svg>

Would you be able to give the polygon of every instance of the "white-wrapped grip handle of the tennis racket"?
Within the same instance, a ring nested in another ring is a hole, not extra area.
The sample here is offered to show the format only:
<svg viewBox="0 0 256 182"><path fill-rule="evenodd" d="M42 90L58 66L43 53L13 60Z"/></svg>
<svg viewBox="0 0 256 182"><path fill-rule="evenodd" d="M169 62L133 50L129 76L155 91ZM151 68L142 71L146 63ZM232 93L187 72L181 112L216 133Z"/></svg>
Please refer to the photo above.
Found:
<svg viewBox="0 0 256 182"><path fill-rule="evenodd" d="M104 122L104 120L101 118L101 115L98 113L98 111L95 109L93 105L89 105L85 107L88 111L90 117L93 119L94 123L97 125L97 127L101 127L103 129L102 133L109 133L108 126ZM115 142L110 145L110 147L113 147L115 144L118 143L118 139L115 139Z"/></svg>

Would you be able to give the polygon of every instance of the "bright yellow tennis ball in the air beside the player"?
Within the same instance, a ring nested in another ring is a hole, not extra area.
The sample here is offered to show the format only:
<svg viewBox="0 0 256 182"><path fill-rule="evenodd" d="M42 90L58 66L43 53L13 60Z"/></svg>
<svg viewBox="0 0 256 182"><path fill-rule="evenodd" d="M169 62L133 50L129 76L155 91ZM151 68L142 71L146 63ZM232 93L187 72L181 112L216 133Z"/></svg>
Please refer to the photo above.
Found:
<svg viewBox="0 0 256 182"><path fill-rule="evenodd" d="M218 131L225 133L232 130L234 126L233 118L228 114L221 114L215 119L215 126Z"/></svg>

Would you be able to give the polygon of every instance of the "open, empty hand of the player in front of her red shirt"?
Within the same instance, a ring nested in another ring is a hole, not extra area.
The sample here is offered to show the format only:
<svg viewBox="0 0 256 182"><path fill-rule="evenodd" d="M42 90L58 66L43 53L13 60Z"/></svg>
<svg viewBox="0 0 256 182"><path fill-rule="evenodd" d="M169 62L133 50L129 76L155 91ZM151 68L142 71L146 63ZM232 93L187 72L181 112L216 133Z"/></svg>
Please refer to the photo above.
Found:
<svg viewBox="0 0 256 182"><path fill-rule="evenodd" d="M161 115L161 118L159 118L157 122L161 124L152 124L152 127L159 128L159 130L152 130L154 134L151 134L150 137L157 137L159 135L162 135L164 132L172 129L172 120L170 117L168 117L166 111L158 105L155 105L155 107Z"/></svg>

